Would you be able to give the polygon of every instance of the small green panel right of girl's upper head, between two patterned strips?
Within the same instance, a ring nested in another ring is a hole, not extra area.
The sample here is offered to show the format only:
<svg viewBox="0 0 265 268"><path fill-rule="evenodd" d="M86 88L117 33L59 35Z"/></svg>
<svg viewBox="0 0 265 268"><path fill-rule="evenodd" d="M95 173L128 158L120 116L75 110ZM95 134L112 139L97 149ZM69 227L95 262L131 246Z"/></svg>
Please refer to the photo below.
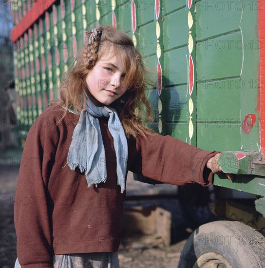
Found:
<svg viewBox="0 0 265 268"><path fill-rule="evenodd" d="M143 57L156 54L155 22L139 27L137 49Z"/></svg>

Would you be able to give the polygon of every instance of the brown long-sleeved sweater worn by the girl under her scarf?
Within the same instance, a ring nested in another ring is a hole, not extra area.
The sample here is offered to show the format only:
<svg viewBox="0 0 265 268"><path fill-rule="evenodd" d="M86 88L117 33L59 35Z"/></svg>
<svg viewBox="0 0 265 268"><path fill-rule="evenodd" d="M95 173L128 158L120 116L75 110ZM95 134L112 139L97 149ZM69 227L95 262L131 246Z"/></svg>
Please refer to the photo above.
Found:
<svg viewBox="0 0 265 268"><path fill-rule="evenodd" d="M31 127L23 151L15 197L17 250L21 267L52 267L52 255L117 251L124 193L116 182L116 159L108 119L99 118L107 182L88 188L71 171L67 154L78 116L51 106ZM171 136L128 139L127 170L160 182L209 185L205 167L217 152L202 151Z"/></svg>

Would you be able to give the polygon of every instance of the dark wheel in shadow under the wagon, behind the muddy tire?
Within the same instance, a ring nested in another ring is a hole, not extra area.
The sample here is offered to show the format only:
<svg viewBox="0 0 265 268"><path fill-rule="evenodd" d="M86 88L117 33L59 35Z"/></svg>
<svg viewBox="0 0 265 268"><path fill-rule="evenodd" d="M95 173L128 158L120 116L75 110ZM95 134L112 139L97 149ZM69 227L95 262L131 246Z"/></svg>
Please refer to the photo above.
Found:
<svg viewBox="0 0 265 268"><path fill-rule="evenodd" d="M178 198L184 219L190 228L196 229L214 219L210 204L214 200L214 186L202 187L189 184L178 187Z"/></svg>

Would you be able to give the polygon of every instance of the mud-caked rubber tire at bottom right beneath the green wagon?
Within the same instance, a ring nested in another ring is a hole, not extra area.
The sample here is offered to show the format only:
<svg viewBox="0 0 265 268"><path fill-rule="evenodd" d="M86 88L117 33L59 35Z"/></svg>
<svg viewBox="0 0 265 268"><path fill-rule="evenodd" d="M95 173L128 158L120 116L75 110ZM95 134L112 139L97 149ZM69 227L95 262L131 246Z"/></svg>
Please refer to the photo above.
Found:
<svg viewBox="0 0 265 268"><path fill-rule="evenodd" d="M264 268L265 237L241 222L215 221L189 236L178 268Z"/></svg>

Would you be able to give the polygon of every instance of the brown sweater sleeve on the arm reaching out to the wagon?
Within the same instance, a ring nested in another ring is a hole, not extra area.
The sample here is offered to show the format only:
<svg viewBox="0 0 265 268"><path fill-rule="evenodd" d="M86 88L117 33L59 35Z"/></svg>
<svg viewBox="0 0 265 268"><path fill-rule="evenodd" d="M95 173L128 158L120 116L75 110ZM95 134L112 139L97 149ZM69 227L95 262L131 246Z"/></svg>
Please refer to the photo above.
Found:
<svg viewBox="0 0 265 268"><path fill-rule="evenodd" d="M129 140L129 170L173 185L197 182L209 186L213 173L206 167L218 152L204 151L186 142L156 133Z"/></svg>

